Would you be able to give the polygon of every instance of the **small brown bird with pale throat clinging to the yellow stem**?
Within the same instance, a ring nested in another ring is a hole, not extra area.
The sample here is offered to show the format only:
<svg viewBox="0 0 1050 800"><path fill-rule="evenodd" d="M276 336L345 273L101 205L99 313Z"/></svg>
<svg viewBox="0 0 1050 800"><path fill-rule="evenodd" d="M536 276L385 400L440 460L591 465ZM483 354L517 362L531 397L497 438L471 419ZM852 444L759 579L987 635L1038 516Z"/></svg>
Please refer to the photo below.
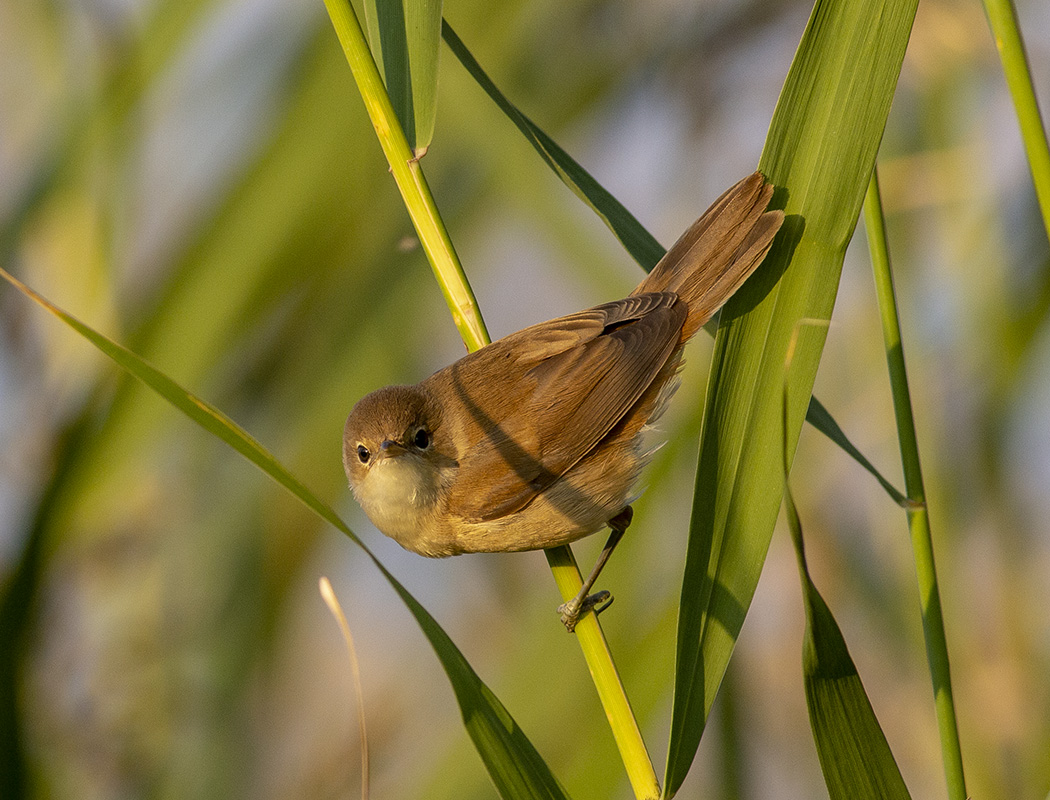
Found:
<svg viewBox="0 0 1050 800"><path fill-rule="evenodd" d="M630 523L652 449L646 426L677 388L685 343L761 262L783 220L756 172L675 243L629 297L526 328L414 386L354 406L342 463L369 519L422 555L534 550L609 526L569 630ZM601 609L598 609L601 610Z"/></svg>

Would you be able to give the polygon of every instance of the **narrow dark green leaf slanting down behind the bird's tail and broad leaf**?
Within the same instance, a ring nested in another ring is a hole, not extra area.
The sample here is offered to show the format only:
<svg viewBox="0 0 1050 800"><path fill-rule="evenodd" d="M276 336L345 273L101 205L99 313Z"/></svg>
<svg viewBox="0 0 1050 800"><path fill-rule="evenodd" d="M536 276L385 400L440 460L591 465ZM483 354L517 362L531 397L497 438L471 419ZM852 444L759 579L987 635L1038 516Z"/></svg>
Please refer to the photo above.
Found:
<svg viewBox="0 0 1050 800"><path fill-rule="evenodd" d="M547 166L553 170L562 182L572 190L584 203L594 210L602 220L609 227L613 235L630 253L631 257L649 272L656 262L664 257L666 252L664 247L648 230L637 220L637 218L627 210L627 208L608 192L597 181L595 181L587 170L569 155L562 147L547 135L534 122L522 113L519 108L511 103L507 97L500 91L499 87L492 83L478 60L470 54L466 45L459 38L452 26L445 21L441 27L441 34L449 49L463 64L464 68L478 82L478 85L485 90L485 93L499 106L518 129L528 140L529 144L536 148L540 156ZM711 320L705 329L714 335L717 330L716 320ZM842 428L835 421L827 408L813 398L806 410L806 422L822 433L856 461L867 471L875 476L879 484L897 502L900 503L903 496L889 481L868 461L864 455L858 450L846 438Z"/></svg>

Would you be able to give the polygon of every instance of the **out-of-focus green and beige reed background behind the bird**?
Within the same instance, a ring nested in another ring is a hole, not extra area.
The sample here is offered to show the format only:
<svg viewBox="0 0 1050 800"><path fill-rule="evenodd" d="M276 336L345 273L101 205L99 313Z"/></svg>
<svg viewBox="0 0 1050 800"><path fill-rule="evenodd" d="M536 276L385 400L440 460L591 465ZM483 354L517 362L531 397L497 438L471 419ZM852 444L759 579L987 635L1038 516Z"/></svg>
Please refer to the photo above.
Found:
<svg viewBox="0 0 1050 800"><path fill-rule="evenodd" d="M497 84L666 245L754 168L808 12L445 5ZM1050 6L1018 12L1046 103ZM440 81L424 168L494 338L629 292L636 266L447 50ZM920 6L881 170L969 790L1042 798L1050 249L980 4ZM630 795L543 555L420 559L345 488L353 403L463 350L319 0L0 0L0 226L2 266L344 512L570 794ZM710 345L690 346L602 581L657 764ZM900 483L862 230L817 394ZM355 700L320 575L357 639L373 797L494 796L436 658L360 552L6 286L0 404L0 756L25 796L356 796ZM793 486L904 778L943 797L903 513L812 429ZM578 546L583 564L600 539ZM778 531L682 797L823 796L801 633Z"/></svg>

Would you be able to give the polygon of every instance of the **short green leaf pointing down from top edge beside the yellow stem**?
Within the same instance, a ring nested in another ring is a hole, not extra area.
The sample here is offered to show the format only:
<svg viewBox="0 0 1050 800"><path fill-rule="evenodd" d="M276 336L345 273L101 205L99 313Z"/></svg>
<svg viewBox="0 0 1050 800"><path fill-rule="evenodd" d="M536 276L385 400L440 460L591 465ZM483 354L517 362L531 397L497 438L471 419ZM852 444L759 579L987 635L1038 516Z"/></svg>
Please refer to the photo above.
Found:
<svg viewBox="0 0 1050 800"><path fill-rule="evenodd" d="M364 0L369 47L417 156L434 138L441 0Z"/></svg>

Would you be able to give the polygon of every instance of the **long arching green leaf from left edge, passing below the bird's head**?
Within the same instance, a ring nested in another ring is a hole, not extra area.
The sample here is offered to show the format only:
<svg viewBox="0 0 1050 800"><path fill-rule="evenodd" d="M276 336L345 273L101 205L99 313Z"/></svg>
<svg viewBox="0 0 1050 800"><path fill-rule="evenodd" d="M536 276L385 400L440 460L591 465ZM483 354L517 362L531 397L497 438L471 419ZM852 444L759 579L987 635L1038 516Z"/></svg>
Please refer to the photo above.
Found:
<svg viewBox="0 0 1050 800"><path fill-rule="evenodd" d="M220 410L187 392L131 351L103 336L0 269L0 277L79 333L118 366L134 376L208 433L226 442L288 489L308 508L345 533L372 560L408 607L438 655L459 701L467 733L474 740L504 798L567 798L558 779L510 713L486 687L433 616L401 586L339 515L307 488L259 442Z"/></svg>

